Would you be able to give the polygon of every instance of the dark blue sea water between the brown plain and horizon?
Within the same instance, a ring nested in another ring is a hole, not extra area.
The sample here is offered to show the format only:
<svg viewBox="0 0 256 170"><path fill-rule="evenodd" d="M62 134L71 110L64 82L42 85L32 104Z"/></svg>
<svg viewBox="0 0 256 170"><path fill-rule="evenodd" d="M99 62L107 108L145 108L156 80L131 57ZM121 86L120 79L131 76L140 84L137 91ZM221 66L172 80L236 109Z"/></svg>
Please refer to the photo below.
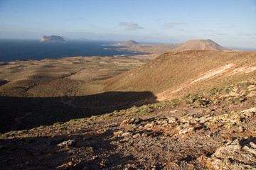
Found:
<svg viewBox="0 0 256 170"><path fill-rule="evenodd" d="M40 42L40 40L0 40L0 62L14 60L43 60L46 58L76 56L127 56L143 55L118 50L110 41Z"/></svg>

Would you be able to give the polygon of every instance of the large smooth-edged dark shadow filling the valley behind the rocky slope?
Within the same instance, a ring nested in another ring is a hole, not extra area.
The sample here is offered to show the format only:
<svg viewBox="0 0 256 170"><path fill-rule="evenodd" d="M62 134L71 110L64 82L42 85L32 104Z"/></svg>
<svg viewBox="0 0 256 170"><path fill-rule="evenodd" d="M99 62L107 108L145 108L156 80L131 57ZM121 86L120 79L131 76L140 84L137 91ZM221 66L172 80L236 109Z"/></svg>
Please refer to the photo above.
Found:
<svg viewBox="0 0 256 170"><path fill-rule="evenodd" d="M0 96L0 132L53 125L148 103L156 103L156 96L149 91L111 91L90 96L50 98Z"/></svg>

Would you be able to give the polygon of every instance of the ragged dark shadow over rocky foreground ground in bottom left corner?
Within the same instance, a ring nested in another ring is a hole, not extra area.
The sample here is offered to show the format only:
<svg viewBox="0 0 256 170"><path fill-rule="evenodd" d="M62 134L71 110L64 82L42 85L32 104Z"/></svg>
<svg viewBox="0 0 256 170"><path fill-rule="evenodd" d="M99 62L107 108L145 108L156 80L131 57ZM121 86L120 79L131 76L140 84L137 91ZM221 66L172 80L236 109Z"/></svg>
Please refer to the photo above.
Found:
<svg viewBox="0 0 256 170"><path fill-rule="evenodd" d="M56 135L52 137L23 137L0 140L0 164L3 169L109 169L134 162L132 157L116 151L117 140L112 130L82 135ZM75 145L58 147L63 141L73 140ZM79 150L78 153L75 154ZM71 154L72 152L72 154ZM106 154L107 153L107 154ZM22 155L22 157L21 157ZM96 157L95 157L96 156ZM94 159L92 159L95 157ZM102 162L104 160L104 162ZM73 162L76 164L68 164Z"/></svg>

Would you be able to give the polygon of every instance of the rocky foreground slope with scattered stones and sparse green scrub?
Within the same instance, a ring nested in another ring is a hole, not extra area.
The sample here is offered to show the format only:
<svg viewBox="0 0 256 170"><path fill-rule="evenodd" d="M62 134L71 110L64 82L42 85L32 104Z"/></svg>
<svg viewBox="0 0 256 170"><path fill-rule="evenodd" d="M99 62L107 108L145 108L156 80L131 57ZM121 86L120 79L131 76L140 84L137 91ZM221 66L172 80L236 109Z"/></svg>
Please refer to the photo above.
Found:
<svg viewBox="0 0 256 170"><path fill-rule="evenodd" d="M256 169L256 79L1 134L1 169Z"/></svg>

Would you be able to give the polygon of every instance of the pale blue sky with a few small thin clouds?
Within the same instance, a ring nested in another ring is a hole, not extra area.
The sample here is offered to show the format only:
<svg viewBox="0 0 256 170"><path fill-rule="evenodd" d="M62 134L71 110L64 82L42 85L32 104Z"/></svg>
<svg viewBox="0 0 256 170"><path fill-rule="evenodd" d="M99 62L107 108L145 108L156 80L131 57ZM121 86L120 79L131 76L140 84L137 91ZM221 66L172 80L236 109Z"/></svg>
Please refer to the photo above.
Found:
<svg viewBox="0 0 256 170"><path fill-rule="evenodd" d="M256 49L256 0L0 0L0 38L42 35Z"/></svg>

